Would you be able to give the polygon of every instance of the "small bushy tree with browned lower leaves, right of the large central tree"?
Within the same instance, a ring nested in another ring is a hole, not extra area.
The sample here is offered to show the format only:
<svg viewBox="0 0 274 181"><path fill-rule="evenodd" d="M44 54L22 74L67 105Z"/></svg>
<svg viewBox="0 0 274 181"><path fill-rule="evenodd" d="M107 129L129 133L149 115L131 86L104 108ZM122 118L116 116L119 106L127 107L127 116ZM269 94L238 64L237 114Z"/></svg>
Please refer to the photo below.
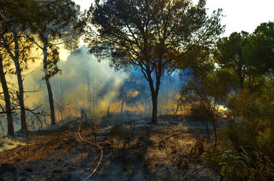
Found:
<svg viewBox="0 0 274 181"><path fill-rule="evenodd" d="M229 85L232 85L234 79L227 70L206 70L204 68L196 70L202 71L196 73L196 76L182 87L180 102L189 109L192 116L194 115L198 120L206 120L207 130L208 123L212 125L216 146L217 125L218 121L223 118L220 107L225 105L229 94Z"/></svg>

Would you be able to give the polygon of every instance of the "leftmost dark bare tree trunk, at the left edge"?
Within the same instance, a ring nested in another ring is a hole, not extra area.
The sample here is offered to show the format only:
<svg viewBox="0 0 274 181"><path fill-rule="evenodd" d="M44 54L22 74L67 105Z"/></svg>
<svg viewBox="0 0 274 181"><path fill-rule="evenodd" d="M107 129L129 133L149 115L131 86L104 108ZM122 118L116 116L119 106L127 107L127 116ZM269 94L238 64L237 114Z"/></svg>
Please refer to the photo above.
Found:
<svg viewBox="0 0 274 181"><path fill-rule="evenodd" d="M12 106L10 104L10 94L8 91L7 81L5 80L5 73L3 70L3 59L0 55L0 81L3 89L3 94L5 98L5 111L7 111L7 120L8 120L8 136L14 137L14 126L12 120Z"/></svg>

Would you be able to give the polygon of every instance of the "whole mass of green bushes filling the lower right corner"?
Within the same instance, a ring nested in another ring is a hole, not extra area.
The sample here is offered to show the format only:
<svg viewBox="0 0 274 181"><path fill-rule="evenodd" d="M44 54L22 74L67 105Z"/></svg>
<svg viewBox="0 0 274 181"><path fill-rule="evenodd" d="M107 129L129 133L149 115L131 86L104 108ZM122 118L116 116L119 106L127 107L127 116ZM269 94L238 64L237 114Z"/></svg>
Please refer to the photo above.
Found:
<svg viewBox="0 0 274 181"><path fill-rule="evenodd" d="M203 154L225 180L274 180L273 79L262 85L258 92L242 89L227 98L220 145Z"/></svg>

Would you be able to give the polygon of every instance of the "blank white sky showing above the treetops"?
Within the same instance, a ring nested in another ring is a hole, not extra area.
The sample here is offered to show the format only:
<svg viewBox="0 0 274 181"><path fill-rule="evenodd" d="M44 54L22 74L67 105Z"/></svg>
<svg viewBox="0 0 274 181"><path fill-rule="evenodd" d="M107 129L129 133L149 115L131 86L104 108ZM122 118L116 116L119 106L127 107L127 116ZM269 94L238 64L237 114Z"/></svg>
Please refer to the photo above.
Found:
<svg viewBox="0 0 274 181"><path fill-rule="evenodd" d="M88 9L92 2L74 1L81 5L81 10ZM218 8L223 9L222 24L226 25L223 36L242 30L252 33L260 23L274 21L274 0L208 0L206 6L210 14Z"/></svg>

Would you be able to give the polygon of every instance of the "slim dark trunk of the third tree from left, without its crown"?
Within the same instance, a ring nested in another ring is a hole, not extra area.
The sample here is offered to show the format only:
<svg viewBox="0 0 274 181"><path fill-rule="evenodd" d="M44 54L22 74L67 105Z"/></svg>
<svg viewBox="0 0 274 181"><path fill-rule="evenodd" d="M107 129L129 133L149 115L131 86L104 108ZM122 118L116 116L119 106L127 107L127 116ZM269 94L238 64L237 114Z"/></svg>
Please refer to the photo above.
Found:
<svg viewBox="0 0 274 181"><path fill-rule="evenodd" d="M54 125L56 124L55 110L54 110L54 104L53 104L53 95L51 91L51 83L49 82L48 69L47 69L47 38L45 38L44 40L43 53L44 53L43 66L44 66L44 72L45 72L45 81L47 85L47 92L49 95L49 107L51 109L51 125Z"/></svg>

